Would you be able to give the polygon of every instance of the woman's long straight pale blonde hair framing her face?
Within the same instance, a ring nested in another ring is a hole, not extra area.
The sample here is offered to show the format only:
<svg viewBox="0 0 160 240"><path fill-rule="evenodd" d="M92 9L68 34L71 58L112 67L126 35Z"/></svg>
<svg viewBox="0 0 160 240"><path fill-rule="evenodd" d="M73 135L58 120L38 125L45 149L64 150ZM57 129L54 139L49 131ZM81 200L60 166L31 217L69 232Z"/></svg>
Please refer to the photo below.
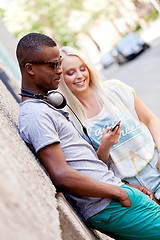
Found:
<svg viewBox="0 0 160 240"><path fill-rule="evenodd" d="M63 68L63 57L65 56L76 56L78 57L88 68L89 75L90 75L90 87L93 90L93 94L98 101L98 103L105 105L107 110L115 114L114 108L115 106L122 109L122 111L126 110L126 107L124 104L121 104L116 97L111 95L109 92L109 88L111 87L110 81L105 82L105 89L102 87L101 77L98 74L98 71L96 70L95 66L83 55L82 52L72 48L72 47L62 47L60 49L60 54L62 56L62 68ZM121 85L120 81L118 82L119 85ZM60 82L59 86L60 91L67 99L68 105L72 108L72 110L75 112L75 114L78 116L82 124L87 125L87 116L85 112L85 108L83 107L82 103L75 97L75 95L70 91L70 89L67 87L64 78L62 76L62 80ZM67 111L70 112L71 116L73 117L73 121L77 123L77 119L73 115L72 111L67 108Z"/></svg>

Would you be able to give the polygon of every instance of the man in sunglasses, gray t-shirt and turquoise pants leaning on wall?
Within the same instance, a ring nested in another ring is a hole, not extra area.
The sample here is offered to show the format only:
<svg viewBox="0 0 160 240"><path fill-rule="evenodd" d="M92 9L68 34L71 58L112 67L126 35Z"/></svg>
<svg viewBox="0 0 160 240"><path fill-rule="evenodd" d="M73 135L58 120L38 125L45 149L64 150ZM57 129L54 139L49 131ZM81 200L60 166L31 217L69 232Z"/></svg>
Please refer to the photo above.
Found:
<svg viewBox="0 0 160 240"><path fill-rule="evenodd" d="M159 239L160 207L141 187L126 186L99 160L76 131L68 114L46 101L62 74L56 43L30 33L17 45L22 74L20 135L38 157L55 186L92 227L116 239Z"/></svg>

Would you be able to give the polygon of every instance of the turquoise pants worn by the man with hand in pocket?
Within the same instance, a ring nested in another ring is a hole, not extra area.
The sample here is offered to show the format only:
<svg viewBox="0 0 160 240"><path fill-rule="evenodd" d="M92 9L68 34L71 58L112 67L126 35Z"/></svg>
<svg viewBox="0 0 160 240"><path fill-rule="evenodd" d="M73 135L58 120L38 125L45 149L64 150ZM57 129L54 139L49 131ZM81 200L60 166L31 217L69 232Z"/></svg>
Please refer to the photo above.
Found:
<svg viewBox="0 0 160 240"><path fill-rule="evenodd" d="M129 195L131 207L112 200L87 222L116 240L160 240L160 206L135 188L122 188Z"/></svg>

